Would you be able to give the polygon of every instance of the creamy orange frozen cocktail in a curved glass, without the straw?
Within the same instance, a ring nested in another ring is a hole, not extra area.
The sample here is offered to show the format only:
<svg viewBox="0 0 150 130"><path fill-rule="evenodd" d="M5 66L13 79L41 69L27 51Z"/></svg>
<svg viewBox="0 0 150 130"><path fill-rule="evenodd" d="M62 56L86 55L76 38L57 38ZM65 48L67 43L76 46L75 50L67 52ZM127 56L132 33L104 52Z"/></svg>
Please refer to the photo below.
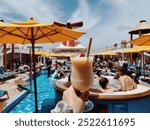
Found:
<svg viewBox="0 0 150 130"><path fill-rule="evenodd" d="M71 57L72 71L71 83L72 86L79 90L85 91L91 87L93 83L93 57Z"/></svg>

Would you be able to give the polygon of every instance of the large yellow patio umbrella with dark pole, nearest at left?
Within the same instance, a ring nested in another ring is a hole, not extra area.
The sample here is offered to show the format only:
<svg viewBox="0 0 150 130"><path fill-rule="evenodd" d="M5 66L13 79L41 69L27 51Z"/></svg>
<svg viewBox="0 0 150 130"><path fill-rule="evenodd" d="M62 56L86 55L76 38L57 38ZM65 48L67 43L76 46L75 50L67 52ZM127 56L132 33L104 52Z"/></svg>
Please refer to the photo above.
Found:
<svg viewBox="0 0 150 130"><path fill-rule="evenodd" d="M25 22L0 23L0 43L6 44L32 44L33 80L35 112L38 112L36 68L35 68L35 44L55 43L68 40L76 40L85 32L79 32L62 28L54 24L45 24L30 18Z"/></svg>

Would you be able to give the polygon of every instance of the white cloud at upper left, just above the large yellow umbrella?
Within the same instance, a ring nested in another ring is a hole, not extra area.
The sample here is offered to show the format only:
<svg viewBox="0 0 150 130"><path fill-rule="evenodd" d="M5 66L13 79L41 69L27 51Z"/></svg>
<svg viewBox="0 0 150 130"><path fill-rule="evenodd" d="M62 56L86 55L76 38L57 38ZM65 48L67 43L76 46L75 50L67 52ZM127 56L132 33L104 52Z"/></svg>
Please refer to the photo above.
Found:
<svg viewBox="0 0 150 130"><path fill-rule="evenodd" d="M3 4L0 5L0 12L11 14L14 16L20 15L24 17L24 20L30 17L34 17L37 20L43 22L53 22L61 17L62 13L56 7L54 0L44 3L43 0L2 0ZM10 15L3 15L5 19L10 19ZM12 17L11 17L12 18ZM15 18L12 18L14 21ZM16 18L16 20L19 20Z"/></svg>

